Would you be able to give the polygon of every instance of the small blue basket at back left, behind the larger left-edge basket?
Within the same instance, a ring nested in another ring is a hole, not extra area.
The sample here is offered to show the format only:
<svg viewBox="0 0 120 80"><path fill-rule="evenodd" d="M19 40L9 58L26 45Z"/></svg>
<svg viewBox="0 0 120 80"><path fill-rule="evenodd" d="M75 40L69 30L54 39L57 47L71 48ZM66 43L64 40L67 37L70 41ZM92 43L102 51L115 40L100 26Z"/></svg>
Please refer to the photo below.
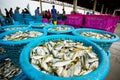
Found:
<svg viewBox="0 0 120 80"><path fill-rule="evenodd" d="M1 28L5 31L10 31L10 30L8 30L10 28L18 28L18 29L15 29L15 30L19 31L19 30L27 30L31 27L29 25L25 25L25 24L21 24L21 25L18 24L18 25L3 26Z"/></svg>

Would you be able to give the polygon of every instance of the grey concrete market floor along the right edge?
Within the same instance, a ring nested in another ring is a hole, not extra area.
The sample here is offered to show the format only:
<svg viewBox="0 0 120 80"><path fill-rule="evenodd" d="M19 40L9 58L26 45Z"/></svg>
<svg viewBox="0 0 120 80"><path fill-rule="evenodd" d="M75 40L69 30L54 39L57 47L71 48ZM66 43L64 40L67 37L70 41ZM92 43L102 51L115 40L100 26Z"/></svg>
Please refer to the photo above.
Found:
<svg viewBox="0 0 120 80"><path fill-rule="evenodd" d="M115 34L120 37L120 23L115 29ZM105 80L120 80L120 40L110 47L110 71Z"/></svg>

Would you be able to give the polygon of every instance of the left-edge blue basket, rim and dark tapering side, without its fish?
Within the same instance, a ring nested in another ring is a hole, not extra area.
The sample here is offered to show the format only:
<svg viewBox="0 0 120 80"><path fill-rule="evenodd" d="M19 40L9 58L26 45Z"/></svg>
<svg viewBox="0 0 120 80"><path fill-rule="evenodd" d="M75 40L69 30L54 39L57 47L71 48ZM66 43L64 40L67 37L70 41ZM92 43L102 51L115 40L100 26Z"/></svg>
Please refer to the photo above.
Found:
<svg viewBox="0 0 120 80"><path fill-rule="evenodd" d="M26 30L22 30L22 31L26 31ZM17 31L7 31L4 32L2 34L0 34L0 45L5 49L8 57L13 61L13 63L15 63L16 65L19 65L19 55L20 52L22 51L23 47L28 44L29 42L45 36L47 33L43 30L40 29L28 29L28 31L39 31L39 32L43 32L43 35L38 36L36 38L30 38L30 39L26 39L26 40L19 40L19 41L3 41L2 38L6 35L10 35L12 33L16 33Z"/></svg>

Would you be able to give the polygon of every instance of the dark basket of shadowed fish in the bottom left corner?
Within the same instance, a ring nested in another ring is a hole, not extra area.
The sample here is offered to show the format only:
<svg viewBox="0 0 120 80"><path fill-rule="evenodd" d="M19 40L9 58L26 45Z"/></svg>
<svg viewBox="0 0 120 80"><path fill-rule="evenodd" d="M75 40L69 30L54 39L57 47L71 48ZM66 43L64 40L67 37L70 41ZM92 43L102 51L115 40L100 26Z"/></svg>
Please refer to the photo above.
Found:
<svg viewBox="0 0 120 80"><path fill-rule="evenodd" d="M0 58L0 80L28 80L20 67L11 62L9 58Z"/></svg>

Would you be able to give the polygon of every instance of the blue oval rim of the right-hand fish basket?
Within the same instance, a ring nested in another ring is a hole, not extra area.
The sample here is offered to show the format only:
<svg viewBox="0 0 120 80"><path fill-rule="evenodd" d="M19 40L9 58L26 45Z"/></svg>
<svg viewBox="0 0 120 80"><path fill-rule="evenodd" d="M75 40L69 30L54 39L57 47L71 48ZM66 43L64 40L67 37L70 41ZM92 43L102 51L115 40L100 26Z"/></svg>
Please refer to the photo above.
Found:
<svg viewBox="0 0 120 80"><path fill-rule="evenodd" d="M112 36L114 36L115 38L114 39L96 39L96 38L91 38L91 37L86 37L86 36L82 36L80 34L78 34L77 32L78 31L81 31L81 32L96 32L96 33L107 33L107 34L110 34ZM104 31L104 30L98 30L98 29L91 29L91 28L79 28L79 29L76 29L72 32L74 35L76 36L80 36L80 37L84 37L86 39L89 39L91 41L94 41L94 42L108 42L108 43L113 43L113 42L116 42L119 40L119 36L117 36L116 34L113 34L111 32L107 32L107 31Z"/></svg>

